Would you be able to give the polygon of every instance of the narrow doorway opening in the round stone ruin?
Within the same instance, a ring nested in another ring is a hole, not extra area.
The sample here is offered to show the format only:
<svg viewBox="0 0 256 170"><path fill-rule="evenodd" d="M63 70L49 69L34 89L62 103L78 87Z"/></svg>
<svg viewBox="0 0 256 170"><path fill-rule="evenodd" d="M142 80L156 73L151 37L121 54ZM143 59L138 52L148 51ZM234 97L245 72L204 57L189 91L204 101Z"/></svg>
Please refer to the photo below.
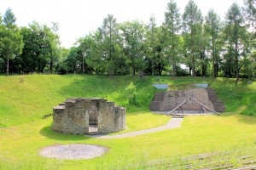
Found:
<svg viewBox="0 0 256 170"><path fill-rule="evenodd" d="M90 106L89 109L89 133L98 132L98 114L96 106Z"/></svg>

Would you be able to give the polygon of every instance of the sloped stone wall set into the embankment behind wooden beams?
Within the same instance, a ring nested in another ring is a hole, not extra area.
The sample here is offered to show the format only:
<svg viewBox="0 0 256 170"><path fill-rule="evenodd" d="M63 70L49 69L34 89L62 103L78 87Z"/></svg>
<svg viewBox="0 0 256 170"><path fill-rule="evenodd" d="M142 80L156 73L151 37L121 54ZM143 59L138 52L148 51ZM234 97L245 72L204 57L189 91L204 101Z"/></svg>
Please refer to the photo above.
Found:
<svg viewBox="0 0 256 170"><path fill-rule="evenodd" d="M177 105L187 100L182 105L183 110L200 111L201 105L198 105L195 99L203 105L207 105L214 111L224 112L224 104L218 99L214 90L211 88L191 88L187 90L171 90L155 94L151 101L150 111L172 111Z"/></svg>

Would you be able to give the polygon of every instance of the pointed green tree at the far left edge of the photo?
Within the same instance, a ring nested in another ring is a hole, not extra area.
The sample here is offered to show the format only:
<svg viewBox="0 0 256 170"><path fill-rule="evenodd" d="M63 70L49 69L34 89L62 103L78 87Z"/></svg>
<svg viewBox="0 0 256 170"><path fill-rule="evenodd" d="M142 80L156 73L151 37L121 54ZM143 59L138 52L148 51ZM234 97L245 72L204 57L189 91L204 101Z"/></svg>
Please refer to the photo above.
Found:
<svg viewBox="0 0 256 170"><path fill-rule="evenodd" d="M0 31L0 48L3 57L7 59L6 74L9 76L9 59L21 54L23 48L22 36L18 27L15 25L15 14L8 8L3 15L3 25Z"/></svg>

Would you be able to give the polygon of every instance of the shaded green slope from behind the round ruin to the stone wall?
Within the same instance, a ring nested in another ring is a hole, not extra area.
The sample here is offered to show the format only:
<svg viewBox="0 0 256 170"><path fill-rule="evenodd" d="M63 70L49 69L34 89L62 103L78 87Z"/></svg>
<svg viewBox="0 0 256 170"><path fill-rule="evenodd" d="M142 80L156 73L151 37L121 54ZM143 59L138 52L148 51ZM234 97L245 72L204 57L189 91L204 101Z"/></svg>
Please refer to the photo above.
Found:
<svg viewBox="0 0 256 170"><path fill-rule="evenodd" d="M154 97L155 89L145 77L142 81L138 77L129 76L69 76L70 83L60 88L57 93L66 98L88 97L104 98L113 101L115 105L125 106L127 111L148 111L151 99ZM136 104L129 105L129 92L127 86L133 82L136 86Z"/></svg>

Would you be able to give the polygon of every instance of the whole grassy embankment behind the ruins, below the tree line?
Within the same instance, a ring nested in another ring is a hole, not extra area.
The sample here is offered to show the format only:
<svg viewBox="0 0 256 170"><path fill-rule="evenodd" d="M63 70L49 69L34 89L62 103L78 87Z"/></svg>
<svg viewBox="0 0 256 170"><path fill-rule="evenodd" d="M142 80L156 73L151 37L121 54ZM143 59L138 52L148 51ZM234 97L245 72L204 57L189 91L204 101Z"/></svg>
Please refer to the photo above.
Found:
<svg viewBox="0 0 256 170"><path fill-rule="evenodd" d="M130 91L134 85L136 102L129 104ZM99 77L81 75L26 75L0 77L0 127L9 127L41 119L52 113L55 105L72 97L101 97L123 105L128 113L148 111L157 91L151 84L168 83L170 89L186 88L202 82L201 77ZM256 116L256 83L218 78L208 78L211 88L216 89L226 105L226 111Z"/></svg>

